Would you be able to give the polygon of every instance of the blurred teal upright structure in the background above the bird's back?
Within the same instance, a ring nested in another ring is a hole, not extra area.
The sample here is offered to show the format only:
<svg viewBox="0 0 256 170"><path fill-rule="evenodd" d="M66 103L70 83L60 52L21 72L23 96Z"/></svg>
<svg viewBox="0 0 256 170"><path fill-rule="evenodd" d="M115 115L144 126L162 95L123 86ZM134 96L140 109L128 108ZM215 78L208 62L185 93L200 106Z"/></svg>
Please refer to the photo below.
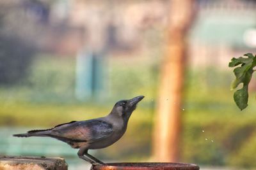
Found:
<svg viewBox="0 0 256 170"><path fill-rule="evenodd" d="M103 99L107 85L106 56L97 52L81 52L76 60L76 97L81 101Z"/></svg>

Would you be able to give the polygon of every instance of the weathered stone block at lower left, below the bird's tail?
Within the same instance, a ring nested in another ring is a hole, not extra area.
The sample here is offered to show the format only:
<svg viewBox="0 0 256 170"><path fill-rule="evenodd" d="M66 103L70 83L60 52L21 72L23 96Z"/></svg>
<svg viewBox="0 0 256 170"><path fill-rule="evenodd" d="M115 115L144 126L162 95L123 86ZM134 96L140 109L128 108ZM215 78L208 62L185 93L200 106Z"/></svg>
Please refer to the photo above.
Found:
<svg viewBox="0 0 256 170"><path fill-rule="evenodd" d="M67 170L63 158L47 157L0 157L0 170Z"/></svg>

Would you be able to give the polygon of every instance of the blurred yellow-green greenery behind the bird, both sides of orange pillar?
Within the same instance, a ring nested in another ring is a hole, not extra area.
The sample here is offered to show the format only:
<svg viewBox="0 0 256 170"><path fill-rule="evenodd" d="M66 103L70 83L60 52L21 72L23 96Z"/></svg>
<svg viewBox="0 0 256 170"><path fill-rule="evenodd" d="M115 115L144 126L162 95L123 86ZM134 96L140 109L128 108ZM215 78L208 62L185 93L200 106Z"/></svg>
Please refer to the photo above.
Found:
<svg viewBox="0 0 256 170"><path fill-rule="evenodd" d="M49 128L71 120L102 117L117 100L145 95L132 114L124 138L97 154L113 160L149 159L159 63L147 57L110 58L108 99L87 102L78 101L74 95L75 64L72 57L40 56L26 80L0 87L0 125ZM248 108L239 111L229 90L231 71L188 68L185 80L184 106L180 108L182 162L256 167L255 94L250 94Z"/></svg>

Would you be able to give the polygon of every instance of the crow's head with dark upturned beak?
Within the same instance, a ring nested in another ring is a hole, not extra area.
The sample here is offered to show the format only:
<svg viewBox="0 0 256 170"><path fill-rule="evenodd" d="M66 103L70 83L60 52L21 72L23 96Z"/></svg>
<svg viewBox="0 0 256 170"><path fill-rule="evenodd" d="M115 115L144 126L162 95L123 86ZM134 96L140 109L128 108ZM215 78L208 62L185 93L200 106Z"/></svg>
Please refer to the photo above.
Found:
<svg viewBox="0 0 256 170"><path fill-rule="evenodd" d="M118 101L111 113L129 119L132 111L136 109L136 105L144 98L144 96L137 96L129 100Z"/></svg>

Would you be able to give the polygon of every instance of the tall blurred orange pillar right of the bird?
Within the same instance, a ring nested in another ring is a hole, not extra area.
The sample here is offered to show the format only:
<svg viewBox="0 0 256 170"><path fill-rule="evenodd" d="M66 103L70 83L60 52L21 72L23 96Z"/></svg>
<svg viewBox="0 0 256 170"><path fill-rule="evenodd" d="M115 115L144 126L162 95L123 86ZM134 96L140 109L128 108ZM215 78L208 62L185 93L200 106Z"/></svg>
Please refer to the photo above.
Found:
<svg viewBox="0 0 256 170"><path fill-rule="evenodd" d="M153 141L153 157L160 162L179 160L186 35L195 15L195 1L171 0L169 11Z"/></svg>

